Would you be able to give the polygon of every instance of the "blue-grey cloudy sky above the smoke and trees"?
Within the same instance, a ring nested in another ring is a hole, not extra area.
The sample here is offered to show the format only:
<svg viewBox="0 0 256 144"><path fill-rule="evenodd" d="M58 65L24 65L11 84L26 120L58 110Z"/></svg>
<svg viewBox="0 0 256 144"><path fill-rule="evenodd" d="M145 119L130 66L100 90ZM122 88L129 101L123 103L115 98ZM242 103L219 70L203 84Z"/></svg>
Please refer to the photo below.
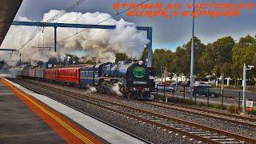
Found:
<svg viewBox="0 0 256 144"><path fill-rule="evenodd" d="M111 15L117 14L113 10L114 2L142 2L143 0L86 0L81 6L73 11L82 13L102 12ZM33 21L41 21L43 14L50 10L63 10L71 6L77 0L23 0L18 14L14 18L26 17ZM192 0L150 0L150 2L181 2L186 6L186 2ZM196 0L196 2L255 2L255 0ZM198 18L195 20L194 34L202 40L203 43L214 42L217 38L230 35L235 40L247 34L256 34L256 8L254 10L242 10L238 18ZM134 22L137 26L153 27L153 49L165 48L175 50L177 46L182 46L188 42L192 35L192 18L173 18L166 19L162 17L127 17L126 13L118 15L115 19L123 18L125 21Z"/></svg>

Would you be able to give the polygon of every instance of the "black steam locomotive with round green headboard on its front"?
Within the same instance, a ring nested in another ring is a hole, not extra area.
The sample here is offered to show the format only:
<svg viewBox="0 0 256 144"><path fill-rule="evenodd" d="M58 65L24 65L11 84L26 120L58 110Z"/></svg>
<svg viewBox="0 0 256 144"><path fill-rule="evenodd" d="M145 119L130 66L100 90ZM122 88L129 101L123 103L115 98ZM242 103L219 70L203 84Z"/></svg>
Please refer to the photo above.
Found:
<svg viewBox="0 0 256 144"><path fill-rule="evenodd" d="M119 91L127 98L149 99L150 91L154 90L150 75L150 69L142 61L106 64L102 67L98 91L118 84Z"/></svg>

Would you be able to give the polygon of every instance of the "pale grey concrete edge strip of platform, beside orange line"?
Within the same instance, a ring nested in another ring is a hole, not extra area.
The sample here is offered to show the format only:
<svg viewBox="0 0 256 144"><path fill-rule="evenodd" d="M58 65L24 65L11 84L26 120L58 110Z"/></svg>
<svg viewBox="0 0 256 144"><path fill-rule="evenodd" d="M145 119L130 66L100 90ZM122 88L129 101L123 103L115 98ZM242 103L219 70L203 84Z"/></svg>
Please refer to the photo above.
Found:
<svg viewBox="0 0 256 144"><path fill-rule="evenodd" d="M6 80L10 82L9 80ZM37 98L39 101L45 103L47 106L50 106L53 110L58 111L59 113L65 115L67 118L70 118L74 122L77 122L79 125L83 126L86 130L90 130L91 133L97 134L98 137L104 139L106 142L110 143L144 143L137 138L131 137L129 134L125 134L120 130L114 129L111 126L99 122L94 118L90 118L86 114L65 106L60 102L56 102L51 98L48 98L42 94L36 94L31 90L26 89L23 86L20 86L14 82L10 82L13 86L17 87L19 90L24 91L26 94L30 94L32 97Z"/></svg>

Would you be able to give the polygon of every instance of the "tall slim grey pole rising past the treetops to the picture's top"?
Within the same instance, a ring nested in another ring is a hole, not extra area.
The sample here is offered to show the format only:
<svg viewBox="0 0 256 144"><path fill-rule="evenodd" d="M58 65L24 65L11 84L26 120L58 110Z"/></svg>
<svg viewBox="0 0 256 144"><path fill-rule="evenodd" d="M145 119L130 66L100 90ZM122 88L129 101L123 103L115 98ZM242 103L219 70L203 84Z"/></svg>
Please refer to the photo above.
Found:
<svg viewBox="0 0 256 144"><path fill-rule="evenodd" d="M193 5L193 11L194 11L194 5ZM192 24L192 42L191 42L190 99L193 98L193 87L194 87L194 16L193 16L193 24Z"/></svg>

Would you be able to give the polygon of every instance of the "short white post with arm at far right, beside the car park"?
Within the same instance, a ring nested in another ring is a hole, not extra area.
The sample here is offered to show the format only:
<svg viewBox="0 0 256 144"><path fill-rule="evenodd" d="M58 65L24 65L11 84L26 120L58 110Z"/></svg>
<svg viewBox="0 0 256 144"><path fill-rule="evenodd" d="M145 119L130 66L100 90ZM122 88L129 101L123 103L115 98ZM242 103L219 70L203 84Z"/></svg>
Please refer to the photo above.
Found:
<svg viewBox="0 0 256 144"><path fill-rule="evenodd" d="M246 67L246 64L243 65L243 78L242 78L242 112L246 114L246 70L251 70L254 66Z"/></svg>

